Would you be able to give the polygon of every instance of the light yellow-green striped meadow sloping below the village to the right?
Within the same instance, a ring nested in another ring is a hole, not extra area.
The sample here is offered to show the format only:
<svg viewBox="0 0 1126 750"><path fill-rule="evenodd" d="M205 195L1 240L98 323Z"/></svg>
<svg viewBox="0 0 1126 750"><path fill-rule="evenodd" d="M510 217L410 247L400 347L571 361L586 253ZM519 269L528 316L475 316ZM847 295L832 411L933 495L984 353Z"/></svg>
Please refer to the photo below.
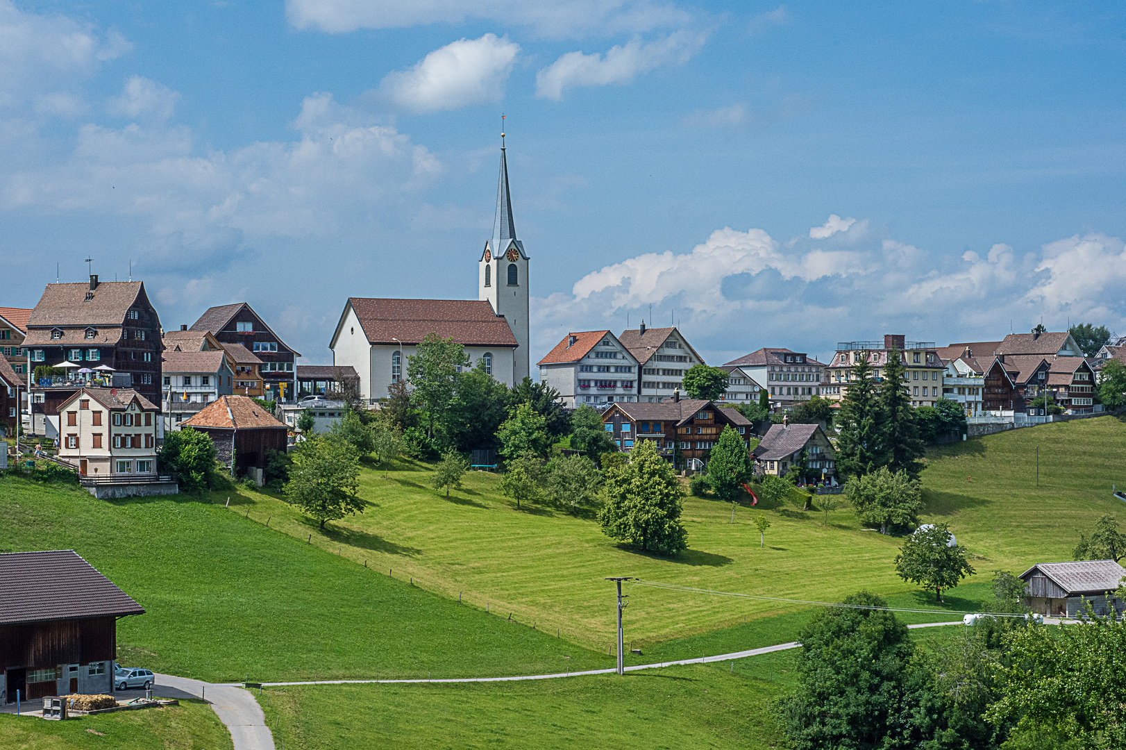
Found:
<svg viewBox="0 0 1126 750"><path fill-rule="evenodd" d="M1035 485L1035 445L1040 444L1040 488ZM249 502L251 518L340 551L359 564L595 649L614 641L613 584L608 575L635 575L680 586L788 599L837 601L860 589L895 606L974 610L988 600L994 570L1025 570L1044 560L1066 560L1080 529L1099 515L1126 510L1110 485L1126 481L1126 423L1114 417L1012 430L930 452L923 472L923 519L948 521L974 555L978 575L950 591L946 606L900 580L894 559L902 539L861 529L848 509L829 514L793 507L765 510L686 498L689 550L672 559L646 555L607 538L589 512L580 517L546 507L517 510L498 493L498 477L471 473L450 499L429 486L427 464L396 464L387 477L361 474L365 512L330 523L325 532L270 493L233 498ZM966 475L972 480L966 482ZM223 500L223 498L220 498ZM771 527L765 547L753 526ZM1126 516L1126 512L1123 514ZM998 530L994 530L998 529ZM627 584L626 623L635 645L697 637L740 646L744 618L779 626L796 605L732 599ZM781 617L780 620L774 618ZM936 622L946 615L905 616ZM960 618L960 614L957 615ZM779 627L785 637L793 628ZM756 641L758 642L758 641ZM775 640L778 642L778 640ZM766 645L763 643L763 645ZM688 650L694 650L690 646Z"/></svg>

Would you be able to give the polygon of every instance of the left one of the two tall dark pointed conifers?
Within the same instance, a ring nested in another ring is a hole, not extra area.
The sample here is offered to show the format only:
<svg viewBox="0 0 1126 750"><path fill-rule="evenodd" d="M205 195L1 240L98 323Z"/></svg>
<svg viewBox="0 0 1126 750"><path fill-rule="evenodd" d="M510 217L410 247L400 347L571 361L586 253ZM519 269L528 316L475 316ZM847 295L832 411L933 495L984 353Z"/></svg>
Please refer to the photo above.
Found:
<svg viewBox="0 0 1126 750"><path fill-rule="evenodd" d="M860 351L837 417L837 468L846 476L873 472L884 462L881 443L883 414L876 398L868 352Z"/></svg>

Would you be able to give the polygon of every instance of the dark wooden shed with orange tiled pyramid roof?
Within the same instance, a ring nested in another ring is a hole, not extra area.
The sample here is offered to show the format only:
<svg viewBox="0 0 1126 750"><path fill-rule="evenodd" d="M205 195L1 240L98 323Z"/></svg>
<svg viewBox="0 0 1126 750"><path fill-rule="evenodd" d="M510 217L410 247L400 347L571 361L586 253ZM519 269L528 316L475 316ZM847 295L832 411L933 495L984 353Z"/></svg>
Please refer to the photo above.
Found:
<svg viewBox="0 0 1126 750"><path fill-rule="evenodd" d="M285 453L288 428L258 403L243 395L220 396L180 427L207 432L218 461L236 475L249 474L259 485L266 468L266 452Z"/></svg>

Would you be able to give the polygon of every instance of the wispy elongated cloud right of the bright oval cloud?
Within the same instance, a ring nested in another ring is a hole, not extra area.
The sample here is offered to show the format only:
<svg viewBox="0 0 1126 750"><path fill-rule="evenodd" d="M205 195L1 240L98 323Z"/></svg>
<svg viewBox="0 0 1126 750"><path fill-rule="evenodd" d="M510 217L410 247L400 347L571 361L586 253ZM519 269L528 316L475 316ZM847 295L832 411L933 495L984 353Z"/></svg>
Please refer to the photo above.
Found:
<svg viewBox="0 0 1126 750"><path fill-rule="evenodd" d="M653 42L634 38L605 55L569 52L536 73L536 96L558 100L566 89L580 86L629 83L654 68L683 64L706 41L705 33L680 30Z"/></svg>

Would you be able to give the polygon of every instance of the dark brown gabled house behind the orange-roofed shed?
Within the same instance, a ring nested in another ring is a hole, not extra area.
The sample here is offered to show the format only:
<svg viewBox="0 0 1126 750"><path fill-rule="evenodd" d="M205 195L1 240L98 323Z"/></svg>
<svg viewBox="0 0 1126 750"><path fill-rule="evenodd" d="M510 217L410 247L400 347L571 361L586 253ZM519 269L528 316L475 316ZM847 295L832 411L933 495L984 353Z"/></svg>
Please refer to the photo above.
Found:
<svg viewBox="0 0 1126 750"><path fill-rule="evenodd" d="M266 324L266 321L254 312L245 302L231 305L218 305L208 307L203 315L188 329L189 331L207 331L231 351L235 359L239 355L227 345L241 345L249 349L258 359L256 375L251 377L239 377L236 380L247 382L259 381L261 384L260 395L267 401L292 402L297 395L297 370L296 361L301 356L300 351L286 346L277 333ZM245 367L244 363L236 363L235 368ZM240 389L235 387L235 392ZM244 394L245 395L245 394Z"/></svg>

